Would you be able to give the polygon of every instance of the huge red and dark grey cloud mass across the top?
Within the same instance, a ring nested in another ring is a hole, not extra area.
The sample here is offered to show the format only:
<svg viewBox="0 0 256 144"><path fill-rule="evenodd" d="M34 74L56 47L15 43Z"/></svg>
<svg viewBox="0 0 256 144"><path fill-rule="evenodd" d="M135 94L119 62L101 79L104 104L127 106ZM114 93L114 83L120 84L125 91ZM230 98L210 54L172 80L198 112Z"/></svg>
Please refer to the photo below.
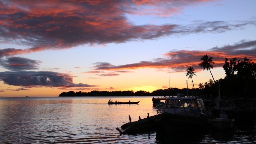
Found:
<svg viewBox="0 0 256 144"><path fill-rule="evenodd" d="M220 33L255 26L255 20L190 25L133 25L126 14L169 16L206 1L0 1L0 43L27 49L0 50L0 57L79 45L125 43L170 35ZM102 64L101 64L102 65Z"/></svg>

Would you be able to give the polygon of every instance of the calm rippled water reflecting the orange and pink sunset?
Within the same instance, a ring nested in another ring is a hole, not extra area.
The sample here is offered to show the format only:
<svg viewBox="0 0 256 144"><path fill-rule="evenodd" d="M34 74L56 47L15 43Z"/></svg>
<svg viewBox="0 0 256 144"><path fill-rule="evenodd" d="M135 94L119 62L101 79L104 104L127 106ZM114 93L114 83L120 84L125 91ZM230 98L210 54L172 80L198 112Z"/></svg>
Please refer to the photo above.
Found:
<svg viewBox="0 0 256 144"><path fill-rule="evenodd" d="M200 134L191 130L164 137L156 132L120 136L116 127L129 122L129 115L136 121L138 116L153 116L156 111L152 97L111 99L140 103L108 105L109 97L0 98L0 143L256 143L255 129Z"/></svg>

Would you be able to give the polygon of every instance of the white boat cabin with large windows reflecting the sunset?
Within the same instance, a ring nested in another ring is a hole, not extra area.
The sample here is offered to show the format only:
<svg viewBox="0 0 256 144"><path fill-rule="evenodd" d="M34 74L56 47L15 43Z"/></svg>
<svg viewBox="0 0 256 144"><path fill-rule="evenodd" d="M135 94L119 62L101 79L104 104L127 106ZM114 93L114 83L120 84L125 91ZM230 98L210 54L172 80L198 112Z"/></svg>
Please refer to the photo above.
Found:
<svg viewBox="0 0 256 144"><path fill-rule="evenodd" d="M200 117L207 115L208 111L200 97L170 97L165 100L161 113Z"/></svg>

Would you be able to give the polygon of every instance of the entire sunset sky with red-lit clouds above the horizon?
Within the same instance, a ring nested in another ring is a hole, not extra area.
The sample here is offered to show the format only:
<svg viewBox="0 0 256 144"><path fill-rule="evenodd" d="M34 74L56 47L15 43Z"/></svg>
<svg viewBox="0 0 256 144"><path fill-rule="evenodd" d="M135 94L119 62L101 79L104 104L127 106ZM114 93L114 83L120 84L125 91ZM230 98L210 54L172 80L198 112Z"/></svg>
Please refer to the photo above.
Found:
<svg viewBox="0 0 256 144"><path fill-rule="evenodd" d="M256 62L256 1L0 0L0 96L195 88Z"/></svg>

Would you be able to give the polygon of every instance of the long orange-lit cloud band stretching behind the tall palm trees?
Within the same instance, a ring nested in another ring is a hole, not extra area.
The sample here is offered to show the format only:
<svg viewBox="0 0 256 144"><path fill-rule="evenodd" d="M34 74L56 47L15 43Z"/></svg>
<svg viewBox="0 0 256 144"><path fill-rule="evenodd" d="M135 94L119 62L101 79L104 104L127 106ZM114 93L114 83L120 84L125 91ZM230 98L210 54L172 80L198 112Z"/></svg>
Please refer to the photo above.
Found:
<svg viewBox="0 0 256 144"><path fill-rule="evenodd" d="M94 68L95 70L120 71L148 67L159 68L167 72L181 72L185 71L188 66L194 66L196 70L201 70L199 66L200 59L206 54L214 58L214 67L222 67L225 58L232 59L236 57L237 59L243 59L247 57L252 61L256 61L256 40L241 40L234 45L213 47L207 51L172 50L165 54L165 58L155 58L152 61L140 61L133 64L115 66L109 63L95 63Z"/></svg>

